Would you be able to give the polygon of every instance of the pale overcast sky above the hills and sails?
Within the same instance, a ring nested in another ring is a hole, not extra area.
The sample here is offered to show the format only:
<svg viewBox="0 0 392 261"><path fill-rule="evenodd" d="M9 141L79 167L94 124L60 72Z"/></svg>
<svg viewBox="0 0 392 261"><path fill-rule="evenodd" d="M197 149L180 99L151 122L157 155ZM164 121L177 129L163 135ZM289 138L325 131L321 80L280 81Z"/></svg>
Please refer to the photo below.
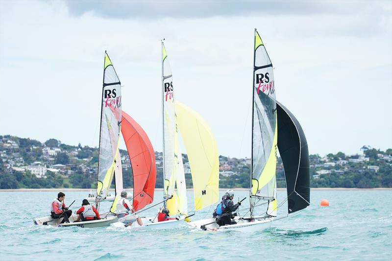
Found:
<svg viewBox="0 0 392 261"><path fill-rule="evenodd" d="M392 148L391 1L1 0L0 135L98 147L107 50L123 110L162 151L165 38L176 99L219 154L249 157L254 28L310 154Z"/></svg>

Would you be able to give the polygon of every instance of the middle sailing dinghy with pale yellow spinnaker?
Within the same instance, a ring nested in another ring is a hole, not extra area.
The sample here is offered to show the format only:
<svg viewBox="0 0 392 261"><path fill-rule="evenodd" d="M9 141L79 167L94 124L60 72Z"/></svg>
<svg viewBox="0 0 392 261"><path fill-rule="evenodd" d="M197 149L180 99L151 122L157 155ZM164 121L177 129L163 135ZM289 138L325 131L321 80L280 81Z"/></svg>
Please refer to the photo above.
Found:
<svg viewBox="0 0 392 261"><path fill-rule="evenodd" d="M194 110L174 97L172 69L162 42L162 125L164 205L170 217L158 222L157 217L143 220L144 227L169 229L184 224L188 199L178 132L188 155L191 168L195 211L210 206L219 198L219 155L215 138L208 124ZM161 210L160 210L161 211ZM193 215L193 214L192 214ZM137 225L135 225L137 226Z"/></svg>

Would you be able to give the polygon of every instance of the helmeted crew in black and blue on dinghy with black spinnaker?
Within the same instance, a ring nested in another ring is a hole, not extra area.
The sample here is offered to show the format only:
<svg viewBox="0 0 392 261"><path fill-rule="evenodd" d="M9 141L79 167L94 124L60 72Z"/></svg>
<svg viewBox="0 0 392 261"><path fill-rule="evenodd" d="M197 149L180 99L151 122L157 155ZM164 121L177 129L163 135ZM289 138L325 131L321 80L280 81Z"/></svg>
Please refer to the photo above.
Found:
<svg viewBox="0 0 392 261"><path fill-rule="evenodd" d="M241 205L241 202L238 202L234 205L233 198L234 190L226 190L226 193L222 197L221 203L218 204L217 208L212 214L213 217L217 218L218 225L224 226L237 224L237 222L231 220L234 218L232 213L238 209L238 207Z"/></svg>

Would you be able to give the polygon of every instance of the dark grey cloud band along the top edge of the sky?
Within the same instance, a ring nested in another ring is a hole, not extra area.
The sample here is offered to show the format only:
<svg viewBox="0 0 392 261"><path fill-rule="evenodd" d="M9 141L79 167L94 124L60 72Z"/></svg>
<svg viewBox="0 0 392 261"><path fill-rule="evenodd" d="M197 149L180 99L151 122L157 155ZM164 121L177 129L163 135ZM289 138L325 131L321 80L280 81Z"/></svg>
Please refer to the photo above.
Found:
<svg viewBox="0 0 392 261"><path fill-rule="evenodd" d="M358 10L365 13L377 10L383 2L366 1L124 1L124 0L65 0L72 15L80 16L93 12L97 16L114 19L192 19L209 17L244 17L270 15L309 15L341 13ZM360 7L358 5L361 5ZM389 9L390 10L390 9Z"/></svg>

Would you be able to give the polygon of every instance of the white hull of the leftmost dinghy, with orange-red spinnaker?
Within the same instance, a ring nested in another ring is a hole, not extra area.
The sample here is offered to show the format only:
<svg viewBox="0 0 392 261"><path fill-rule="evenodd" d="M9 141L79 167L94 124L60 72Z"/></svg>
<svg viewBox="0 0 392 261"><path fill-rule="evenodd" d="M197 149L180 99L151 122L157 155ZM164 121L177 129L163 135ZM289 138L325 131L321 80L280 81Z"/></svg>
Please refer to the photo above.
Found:
<svg viewBox="0 0 392 261"><path fill-rule="evenodd" d="M63 223L61 224L61 221L63 220L62 217L59 219L54 219L53 217L49 216L43 216L39 218L33 219L34 224L38 226L51 226L51 227L72 227L72 226L77 226L77 227L82 227L82 228L98 228L98 227L107 227L110 226L111 223L117 222L118 218L116 215L108 215L105 218L101 218L99 220L91 220L91 221L81 221L81 222L74 222L77 218L76 214L73 214L70 216L70 221L71 223Z"/></svg>

